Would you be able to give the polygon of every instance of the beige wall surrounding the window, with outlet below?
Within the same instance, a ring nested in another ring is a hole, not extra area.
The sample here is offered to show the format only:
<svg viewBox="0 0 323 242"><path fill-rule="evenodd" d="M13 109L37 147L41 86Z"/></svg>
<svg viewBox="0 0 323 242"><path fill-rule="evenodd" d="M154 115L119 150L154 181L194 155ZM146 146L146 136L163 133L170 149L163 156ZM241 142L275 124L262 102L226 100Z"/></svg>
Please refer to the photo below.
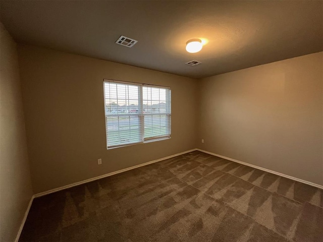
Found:
<svg viewBox="0 0 323 242"><path fill-rule="evenodd" d="M19 60L35 193L196 147L194 79L26 45ZM103 78L170 86L172 138L106 150Z"/></svg>

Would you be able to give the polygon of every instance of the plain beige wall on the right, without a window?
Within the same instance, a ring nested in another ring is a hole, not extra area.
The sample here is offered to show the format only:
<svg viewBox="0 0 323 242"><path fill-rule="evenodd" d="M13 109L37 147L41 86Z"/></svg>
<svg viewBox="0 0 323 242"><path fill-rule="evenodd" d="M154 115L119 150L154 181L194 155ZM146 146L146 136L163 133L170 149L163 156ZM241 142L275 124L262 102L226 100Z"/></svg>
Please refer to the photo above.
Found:
<svg viewBox="0 0 323 242"><path fill-rule="evenodd" d="M322 70L319 52L201 80L198 147L323 185Z"/></svg>

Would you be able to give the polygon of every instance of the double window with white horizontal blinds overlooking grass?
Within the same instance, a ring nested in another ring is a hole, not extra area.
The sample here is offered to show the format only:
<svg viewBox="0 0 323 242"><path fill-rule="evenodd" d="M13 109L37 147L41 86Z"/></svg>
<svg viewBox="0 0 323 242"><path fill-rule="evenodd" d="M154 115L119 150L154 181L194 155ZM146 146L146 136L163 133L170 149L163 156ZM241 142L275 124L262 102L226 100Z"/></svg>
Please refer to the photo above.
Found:
<svg viewBox="0 0 323 242"><path fill-rule="evenodd" d="M104 80L107 148L171 137L171 89Z"/></svg>

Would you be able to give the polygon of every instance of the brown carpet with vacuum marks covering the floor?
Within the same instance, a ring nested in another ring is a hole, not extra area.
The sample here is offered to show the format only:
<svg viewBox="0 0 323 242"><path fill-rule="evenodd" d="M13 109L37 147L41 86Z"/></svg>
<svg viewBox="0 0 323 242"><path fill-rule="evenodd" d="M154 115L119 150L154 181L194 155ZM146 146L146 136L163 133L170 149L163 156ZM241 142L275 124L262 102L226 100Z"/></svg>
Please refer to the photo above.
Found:
<svg viewBox="0 0 323 242"><path fill-rule="evenodd" d="M323 241L323 191L190 152L33 201L19 241Z"/></svg>

